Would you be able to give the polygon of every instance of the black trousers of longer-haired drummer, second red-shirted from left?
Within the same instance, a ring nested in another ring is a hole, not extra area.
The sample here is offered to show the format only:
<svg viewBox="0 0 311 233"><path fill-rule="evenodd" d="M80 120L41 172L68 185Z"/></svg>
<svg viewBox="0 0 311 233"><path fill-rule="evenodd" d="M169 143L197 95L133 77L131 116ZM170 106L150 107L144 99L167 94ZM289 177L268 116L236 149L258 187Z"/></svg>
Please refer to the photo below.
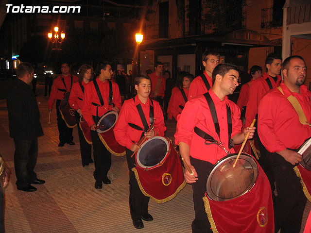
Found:
<svg viewBox="0 0 311 233"><path fill-rule="evenodd" d="M80 129L80 126L79 126L80 114L78 112L75 112L74 118L76 119L76 122L77 122L82 165L86 165L92 160L92 145L86 142L86 139L82 133L82 130Z"/></svg>

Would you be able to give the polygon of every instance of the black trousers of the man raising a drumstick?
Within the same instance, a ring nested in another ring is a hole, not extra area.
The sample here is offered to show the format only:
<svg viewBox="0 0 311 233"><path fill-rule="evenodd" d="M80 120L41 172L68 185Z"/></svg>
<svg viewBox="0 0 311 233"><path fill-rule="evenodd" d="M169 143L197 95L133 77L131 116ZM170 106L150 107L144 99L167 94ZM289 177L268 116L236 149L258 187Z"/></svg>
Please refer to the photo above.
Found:
<svg viewBox="0 0 311 233"><path fill-rule="evenodd" d="M207 161L194 159L192 157L190 157L190 163L194 166L198 174L198 180L191 184L195 212L195 218L191 225L192 233L212 233L202 198L205 196L206 192L207 177L214 165Z"/></svg>

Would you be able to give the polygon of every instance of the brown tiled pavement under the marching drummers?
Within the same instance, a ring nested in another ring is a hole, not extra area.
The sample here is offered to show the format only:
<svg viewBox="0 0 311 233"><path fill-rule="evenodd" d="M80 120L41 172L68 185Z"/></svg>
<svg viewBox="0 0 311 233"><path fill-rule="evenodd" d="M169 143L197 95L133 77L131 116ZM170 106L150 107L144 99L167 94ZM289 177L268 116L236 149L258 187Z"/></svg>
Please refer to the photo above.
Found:
<svg viewBox="0 0 311 233"><path fill-rule="evenodd" d="M37 86L37 97L44 135L38 138L39 154L35 171L46 181L36 185L33 193L18 191L14 173L14 143L9 137L5 100L0 100L0 154L12 169L5 189L6 233L177 233L191 232L194 217L191 186L171 201L157 204L150 200L149 211L154 221L144 221L143 229L135 229L129 215L128 168L125 157L112 156L108 173L110 185L94 188L94 164L82 167L77 130L75 146L58 148L55 105L52 124L48 122L47 97L43 86ZM167 121L167 137L173 136L175 124ZM305 224L311 204L304 215ZM303 232L303 230L301 231Z"/></svg>

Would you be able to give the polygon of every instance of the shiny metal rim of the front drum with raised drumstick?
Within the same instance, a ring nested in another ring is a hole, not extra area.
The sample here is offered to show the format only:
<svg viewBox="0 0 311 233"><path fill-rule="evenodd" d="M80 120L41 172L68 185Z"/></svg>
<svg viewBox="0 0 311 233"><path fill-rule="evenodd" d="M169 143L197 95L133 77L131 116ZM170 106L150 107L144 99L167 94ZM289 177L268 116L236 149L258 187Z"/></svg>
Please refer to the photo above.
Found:
<svg viewBox="0 0 311 233"><path fill-rule="evenodd" d="M232 158L236 158L238 156L238 153L233 153L233 154L228 154L227 156L225 156L224 158L218 160L216 162L216 164L212 167L211 169L211 172L209 173L208 177L207 177L207 183L206 183L206 194L207 196L211 199L211 200L215 200L215 201L226 201L226 200L232 200L232 199L236 199L236 198L239 198L241 196L243 196L245 193L249 192L255 185L255 183L257 182L257 179L258 179L258 175L259 175L259 166L255 160L255 158L253 158L253 156L247 154L247 153L241 153L240 155L240 158L249 158L251 159L250 161L252 161L252 165L256 165L257 167L257 173L256 173L256 177L252 179L252 182L251 184L247 187L247 189L239 194L238 196L236 197L233 197L233 198L228 198L228 199L225 199L225 198L219 198L215 195L213 195L213 192L211 191L211 188L210 188L210 181L212 179L212 174L214 173L214 171L219 167L221 166L223 163L225 163L226 161L228 160L231 160ZM248 162L250 162L249 160L247 160Z"/></svg>

